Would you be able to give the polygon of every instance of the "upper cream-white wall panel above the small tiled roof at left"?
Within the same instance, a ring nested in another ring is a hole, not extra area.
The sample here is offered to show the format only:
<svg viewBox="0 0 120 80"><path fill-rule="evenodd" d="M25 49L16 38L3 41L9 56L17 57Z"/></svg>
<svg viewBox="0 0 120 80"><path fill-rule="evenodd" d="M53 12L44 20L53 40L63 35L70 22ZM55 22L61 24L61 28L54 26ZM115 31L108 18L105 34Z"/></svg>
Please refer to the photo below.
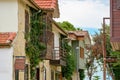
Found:
<svg viewBox="0 0 120 80"><path fill-rule="evenodd" d="M17 32L17 0L0 0L0 32Z"/></svg>

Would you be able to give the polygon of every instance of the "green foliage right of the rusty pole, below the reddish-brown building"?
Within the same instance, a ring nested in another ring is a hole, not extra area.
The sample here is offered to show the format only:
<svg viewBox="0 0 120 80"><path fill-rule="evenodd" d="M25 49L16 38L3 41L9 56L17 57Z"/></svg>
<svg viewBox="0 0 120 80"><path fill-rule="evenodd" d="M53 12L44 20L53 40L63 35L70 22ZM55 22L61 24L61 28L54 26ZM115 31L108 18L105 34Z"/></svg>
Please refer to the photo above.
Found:
<svg viewBox="0 0 120 80"><path fill-rule="evenodd" d="M116 63L108 63L108 65L110 66L110 69L113 71L113 73L115 75L115 80L119 80L120 79L120 76L119 76L120 75L120 73L119 73L119 70L120 70L120 60L119 60L120 59L120 52L112 50L112 47L110 44L110 27L109 27L109 25L105 26L105 33L106 33L105 34L105 36L106 36L106 46L105 47L106 47L106 53L107 53L106 55L110 56L110 57L116 57L116 59L118 59ZM102 34L102 29L101 29L101 34L98 36L101 36L101 39L102 39L102 35L103 34ZM96 42L98 40L100 40L100 39L96 37ZM101 40L101 43L102 43L102 40ZM101 49L101 51L102 51L102 49ZM101 56L101 58L102 58L102 56Z"/></svg>

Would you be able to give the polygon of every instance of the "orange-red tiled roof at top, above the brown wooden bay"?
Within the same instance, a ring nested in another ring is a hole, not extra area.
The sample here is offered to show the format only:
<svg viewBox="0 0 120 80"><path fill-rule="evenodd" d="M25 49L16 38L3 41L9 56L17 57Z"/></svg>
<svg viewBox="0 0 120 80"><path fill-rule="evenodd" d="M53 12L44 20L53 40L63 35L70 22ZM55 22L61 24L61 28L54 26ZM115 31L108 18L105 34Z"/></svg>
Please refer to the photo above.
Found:
<svg viewBox="0 0 120 80"><path fill-rule="evenodd" d="M57 0L34 0L35 3L41 8L41 9L55 9L57 5Z"/></svg>

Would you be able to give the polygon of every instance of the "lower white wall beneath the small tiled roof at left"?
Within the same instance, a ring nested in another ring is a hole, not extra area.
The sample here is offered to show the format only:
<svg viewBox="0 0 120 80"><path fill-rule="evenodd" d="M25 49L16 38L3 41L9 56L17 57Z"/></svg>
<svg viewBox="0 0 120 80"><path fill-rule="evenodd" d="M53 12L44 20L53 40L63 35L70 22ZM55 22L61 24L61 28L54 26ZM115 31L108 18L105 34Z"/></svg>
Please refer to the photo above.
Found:
<svg viewBox="0 0 120 80"><path fill-rule="evenodd" d="M13 80L13 48L0 48L0 80Z"/></svg>

